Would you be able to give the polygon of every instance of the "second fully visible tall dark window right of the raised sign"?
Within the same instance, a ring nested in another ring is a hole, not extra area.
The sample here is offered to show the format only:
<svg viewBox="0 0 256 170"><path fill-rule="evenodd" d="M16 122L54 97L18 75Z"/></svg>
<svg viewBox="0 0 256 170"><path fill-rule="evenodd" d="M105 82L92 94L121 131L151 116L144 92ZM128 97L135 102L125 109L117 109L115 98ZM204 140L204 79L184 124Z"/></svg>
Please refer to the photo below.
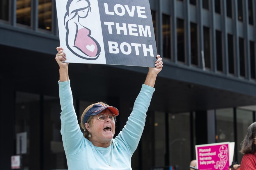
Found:
<svg viewBox="0 0 256 170"><path fill-rule="evenodd" d="M183 19L177 19L177 55L178 61L185 62L185 36Z"/></svg>

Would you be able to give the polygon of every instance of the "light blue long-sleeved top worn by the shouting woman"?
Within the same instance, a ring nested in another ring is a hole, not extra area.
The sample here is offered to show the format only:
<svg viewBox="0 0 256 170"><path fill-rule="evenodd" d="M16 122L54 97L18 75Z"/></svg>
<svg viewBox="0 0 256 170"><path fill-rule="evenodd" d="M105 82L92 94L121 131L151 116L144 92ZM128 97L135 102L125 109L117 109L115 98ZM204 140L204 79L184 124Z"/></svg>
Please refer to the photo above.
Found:
<svg viewBox="0 0 256 170"><path fill-rule="evenodd" d="M145 126L146 112L154 88L142 85L126 125L107 148L95 147L83 137L73 106L70 80L59 82L61 135L69 170L130 170ZM128 109L128 108L127 108ZM121 113L122 114L122 113ZM110 165L110 166L109 166Z"/></svg>

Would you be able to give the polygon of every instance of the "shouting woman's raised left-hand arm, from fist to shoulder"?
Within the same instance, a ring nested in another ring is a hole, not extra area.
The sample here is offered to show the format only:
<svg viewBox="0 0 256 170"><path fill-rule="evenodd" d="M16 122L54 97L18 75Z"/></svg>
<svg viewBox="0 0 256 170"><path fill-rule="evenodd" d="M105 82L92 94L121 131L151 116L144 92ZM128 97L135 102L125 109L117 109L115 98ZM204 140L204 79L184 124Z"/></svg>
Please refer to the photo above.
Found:
<svg viewBox="0 0 256 170"><path fill-rule="evenodd" d="M59 96L61 104L61 135L63 147L67 155L73 155L84 149L81 143L85 139L80 130L73 105L73 96L68 77L68 63L63 48L57 47L56 61L60 67Z"/></svg>

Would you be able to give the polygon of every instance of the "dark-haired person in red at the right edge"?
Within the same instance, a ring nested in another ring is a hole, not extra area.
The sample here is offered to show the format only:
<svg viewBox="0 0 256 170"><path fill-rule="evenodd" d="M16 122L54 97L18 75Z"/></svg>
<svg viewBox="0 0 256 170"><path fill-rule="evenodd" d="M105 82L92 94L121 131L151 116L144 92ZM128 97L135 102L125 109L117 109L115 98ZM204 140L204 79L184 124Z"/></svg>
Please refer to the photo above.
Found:
<svg viewBox="0 0 256 170"><path fill-rule="evenodd" d="M255 170L256 169L256 122L251 124L246 136L242 142L242 149L240 151L243 155L241 161L241 170Z"/></svg>

